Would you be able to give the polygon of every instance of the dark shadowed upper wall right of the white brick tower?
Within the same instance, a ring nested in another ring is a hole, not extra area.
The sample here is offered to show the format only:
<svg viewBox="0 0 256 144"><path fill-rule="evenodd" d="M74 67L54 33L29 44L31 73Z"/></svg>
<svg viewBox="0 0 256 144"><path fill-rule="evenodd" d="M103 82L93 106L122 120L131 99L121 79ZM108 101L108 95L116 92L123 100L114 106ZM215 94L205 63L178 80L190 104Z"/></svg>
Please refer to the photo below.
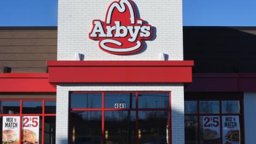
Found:
<svg viewBox="0 0 256 144"><path fill-rule="evenodd" d="M183 27L193 73L255 73L256 27Z"/></svg>

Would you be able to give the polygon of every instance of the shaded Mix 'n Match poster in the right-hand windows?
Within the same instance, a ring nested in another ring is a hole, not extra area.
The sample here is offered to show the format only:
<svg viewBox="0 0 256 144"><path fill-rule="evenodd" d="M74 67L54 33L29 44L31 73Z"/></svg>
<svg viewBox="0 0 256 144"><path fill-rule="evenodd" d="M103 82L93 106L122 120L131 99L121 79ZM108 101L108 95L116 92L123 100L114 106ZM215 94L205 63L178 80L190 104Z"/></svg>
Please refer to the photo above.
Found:
<svg viewBox="0 0 256 144"><path fill-rule="evenodd" d="M239 144L239 116L222 116L222 143Z"/></svg>

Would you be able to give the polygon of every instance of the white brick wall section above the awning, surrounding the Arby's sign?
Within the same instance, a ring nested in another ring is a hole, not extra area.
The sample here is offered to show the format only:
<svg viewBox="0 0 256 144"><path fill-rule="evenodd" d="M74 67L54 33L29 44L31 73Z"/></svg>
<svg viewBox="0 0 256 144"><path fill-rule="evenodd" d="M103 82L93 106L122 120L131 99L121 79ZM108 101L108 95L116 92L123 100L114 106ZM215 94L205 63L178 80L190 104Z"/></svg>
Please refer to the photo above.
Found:
<svg viewBox="0 0 256 144"><path fill-rule="evenodd" d="M109 0L59 0L58 60L74 60L76 52L85 60L158 60L164 52L169 60L183 60L182 0L133 1L137 14L155 27L154 41L145 41L147 49L134 55L114 55L100 50L99 41L89 39L92 20L105 20ZM144 45L145 46L145 45Z"/></svg>

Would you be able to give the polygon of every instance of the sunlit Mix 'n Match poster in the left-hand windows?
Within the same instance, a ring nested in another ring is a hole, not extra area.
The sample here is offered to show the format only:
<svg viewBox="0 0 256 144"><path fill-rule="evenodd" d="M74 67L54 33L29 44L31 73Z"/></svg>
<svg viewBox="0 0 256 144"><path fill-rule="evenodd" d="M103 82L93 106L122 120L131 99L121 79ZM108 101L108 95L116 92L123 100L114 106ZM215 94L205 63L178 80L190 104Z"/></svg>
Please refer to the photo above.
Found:
<svg viewBox="0 0 256 144"><path fill-rule="evenodd" d="M3 116L2 143L18 144L20 138L20 117Z"/></svg>

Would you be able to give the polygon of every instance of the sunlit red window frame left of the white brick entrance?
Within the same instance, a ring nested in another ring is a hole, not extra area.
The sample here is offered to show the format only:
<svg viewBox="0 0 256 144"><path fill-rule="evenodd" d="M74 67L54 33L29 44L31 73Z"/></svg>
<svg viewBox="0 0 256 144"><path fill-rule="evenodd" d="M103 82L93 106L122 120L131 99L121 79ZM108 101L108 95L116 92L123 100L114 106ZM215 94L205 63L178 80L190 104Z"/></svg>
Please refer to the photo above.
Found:
<svg viewBox="0 0 256 144"><path fill-rule="evenodd" d="M45 101L56 101L56 99L0 99L0 101L20 101L20 114L0 114L0 116L20 116L20 141L19 144L22 144L22 116L42 116L42 144L44 144L44 118L45 116L56 116L56 114L45 114ZM23 101L42 101L42 114L22 114L22 105ZM1 130L2 131L2 130Z"/></svg>

